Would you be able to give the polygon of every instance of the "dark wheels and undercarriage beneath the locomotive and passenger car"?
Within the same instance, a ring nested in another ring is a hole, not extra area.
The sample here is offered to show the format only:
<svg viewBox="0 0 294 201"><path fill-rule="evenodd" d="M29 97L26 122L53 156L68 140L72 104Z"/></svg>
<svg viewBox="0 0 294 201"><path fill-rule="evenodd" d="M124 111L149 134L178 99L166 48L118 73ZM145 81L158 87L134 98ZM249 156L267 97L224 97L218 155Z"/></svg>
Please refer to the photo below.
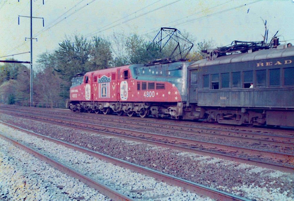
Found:
<svg viewBox="0 0 294 201"><path fill-rule="evenodd" d="M279 125L294 126L294 111L268 110L266 108L206 108L186 103L157 102L97 102L71 101L68 108L78 112L116 113L140 117L168 117L172 119L199 120L231 125Z"/></svg>

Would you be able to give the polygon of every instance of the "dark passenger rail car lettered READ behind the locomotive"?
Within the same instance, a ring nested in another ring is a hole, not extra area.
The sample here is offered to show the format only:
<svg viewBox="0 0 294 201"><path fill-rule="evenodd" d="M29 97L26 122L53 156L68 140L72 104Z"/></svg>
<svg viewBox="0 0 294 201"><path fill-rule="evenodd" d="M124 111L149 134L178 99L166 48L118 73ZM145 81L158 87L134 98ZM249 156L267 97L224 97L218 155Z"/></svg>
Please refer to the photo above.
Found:
<svg viewBox="0 0 294 201"><path fill-rule="evenodd" d="M188 67L186 118L294 127L293 46L210 56Z"/></svg>

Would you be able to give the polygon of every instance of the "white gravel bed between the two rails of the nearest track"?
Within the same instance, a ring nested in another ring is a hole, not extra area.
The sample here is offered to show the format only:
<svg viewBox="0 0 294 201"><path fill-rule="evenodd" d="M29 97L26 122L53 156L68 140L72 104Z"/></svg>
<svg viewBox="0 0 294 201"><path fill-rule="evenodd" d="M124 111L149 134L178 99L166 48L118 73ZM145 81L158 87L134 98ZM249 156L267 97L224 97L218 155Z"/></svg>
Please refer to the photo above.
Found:
<svg viewBox="0 0 294 201"><path fill-rule="evenodd" d="M9 127L3 127L2 125L0 125L0 127L6 130L4 133L6 136L18 140L18 142L25 144L26 146L29 146L96 181L99 181L110 188L118 190L124 195L146 201L213 201L210 198L203 198L182 188L156 181L154 178L101 161L62 145L34 137L24 132L16 131ZM73 190L70 190L68 193L74 192ZM83 197L85 200L91 199L91 195L84 195Z"/></svg>

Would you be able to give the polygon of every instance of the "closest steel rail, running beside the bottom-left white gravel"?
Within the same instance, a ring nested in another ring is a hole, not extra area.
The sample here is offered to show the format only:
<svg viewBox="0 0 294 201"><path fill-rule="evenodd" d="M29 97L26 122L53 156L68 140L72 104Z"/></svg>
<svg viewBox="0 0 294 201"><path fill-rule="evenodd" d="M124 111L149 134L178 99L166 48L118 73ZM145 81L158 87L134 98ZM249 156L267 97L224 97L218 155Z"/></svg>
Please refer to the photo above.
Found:
<svg viewBox="0 0 294 201"><path fill-rule="evenodd" d="M14 126L13 126L14 127ZM16 127L15 127L16 128ZM19 130L19 128L16 128ZM23 130L24 131L24 130ZM26 130L25 132L29 132L28 130ZM104 185L103 183L100 183L96 180L93 180L92 178L79 173L78 171L75 171L74 169L54 160L51 159L48 156L45 156L44 154L39 153L38 151L31 149L30 147L21 144L3 134L0 133L0 138L14 144L16 147L19 147L21 149L23 149L24 151L34 155L35 157L39 158L42 161L45 161L46 163L48 163L49 165L53 166L54 168L58 169L61 172L66 173L69 176L72 176L78 180L80 180L81 182L85 183L86 185L98 190L101 194L113 199L113 200L119 200L119 201L138 201L135 200L131 197L128 197L126 195L123 195L122 193L118 192L117 190L114 190L112 188L109 188L108 186ZM45 138L45 136L43 137Z"/></svg>

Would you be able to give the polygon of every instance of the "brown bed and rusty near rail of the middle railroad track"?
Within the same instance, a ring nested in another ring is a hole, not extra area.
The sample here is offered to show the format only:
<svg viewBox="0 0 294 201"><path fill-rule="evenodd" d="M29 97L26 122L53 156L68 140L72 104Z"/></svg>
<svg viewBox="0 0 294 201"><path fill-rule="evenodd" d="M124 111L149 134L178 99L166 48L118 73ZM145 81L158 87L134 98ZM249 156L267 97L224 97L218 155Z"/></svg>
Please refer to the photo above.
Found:
<svg viewBox="0 0 294 201"><path fill-rule="evenodd" d="M275 170L293 172L293 154L279 153L260 149L248 149L244 147L237 147L232 145L225 145L220 143L203 142L191 139L183 139L179 137L166 136L154 133L146 133L140 131L130 131L127 129L119 129L115 127L107 127L101 125L87 124L83 122L75 122L63 119L56 119L52 117L43 117L36 115L28 115L22 113L8 112L14 115L21 115L22 117L30 117L33 119L42 120L44 122L54 123L58 125L66 124L75 129L82 129L87 131L95 131L103 135L118 136L121 138L135 140L137 142L144 142L148 144L155 144L162 147L169 147L181 151L187 151L207 156L218 157L222 159L229 159L251 165L272 168ZM260 157L262 156L262 157ZM274 162L263 160L264 157L268 159L275 159ZM260 159L263 158L263 159ZM283 163L276 161L283 160Z"/></svg>

